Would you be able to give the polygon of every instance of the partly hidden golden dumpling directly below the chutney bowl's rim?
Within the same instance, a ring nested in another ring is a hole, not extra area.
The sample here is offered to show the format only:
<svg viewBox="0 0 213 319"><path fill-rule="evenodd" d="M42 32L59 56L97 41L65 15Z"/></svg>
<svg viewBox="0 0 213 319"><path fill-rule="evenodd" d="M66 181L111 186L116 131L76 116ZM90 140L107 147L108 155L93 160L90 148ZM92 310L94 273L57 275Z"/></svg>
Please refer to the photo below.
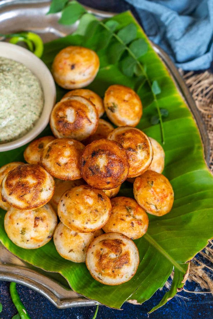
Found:
<svg viewBox="0 0 213 319"><path fill-rule="evenodd" d="M55 137L44 136L31 142L24 151L24 159L29 164L41 164L41 153L45 146L53 141Z"/></svg>

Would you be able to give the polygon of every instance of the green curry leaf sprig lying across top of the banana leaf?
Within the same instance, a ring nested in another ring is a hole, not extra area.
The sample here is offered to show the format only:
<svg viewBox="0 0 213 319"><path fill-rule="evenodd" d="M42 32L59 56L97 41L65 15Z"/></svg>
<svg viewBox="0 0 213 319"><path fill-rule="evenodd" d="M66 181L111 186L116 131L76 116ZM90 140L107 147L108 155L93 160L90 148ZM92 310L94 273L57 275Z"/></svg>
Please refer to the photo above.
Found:
<svg viewBox="0 0 213 319"><path fill-rule="evenodd" d="M77 1L58 1L53 0L48 13L55 13L62 11L59 23L73 24L78 19L84 18L87 14L85 8ZM101 27L101 28L100 28ZM127 77L136 75L141 82L137 89L137 93L142 89L145 83L148 84L150 92L153 97L154 105L157 109L157 115L151 119L153 125L160 124L162 144L165 143L163 114L160 110L157 100L157 94L161 93L161 88L154 80L150 81L147 75L146 65L142 65L140 58L148 51L148 44L145 40L137 38L137 28L134 23L119 28L119 23L113 19L105 22L93 19L87 26L87 40L85 46L93 47L96 51L106 49L108 50L108 57L110 63L120 63L121 71Z"/></svg>

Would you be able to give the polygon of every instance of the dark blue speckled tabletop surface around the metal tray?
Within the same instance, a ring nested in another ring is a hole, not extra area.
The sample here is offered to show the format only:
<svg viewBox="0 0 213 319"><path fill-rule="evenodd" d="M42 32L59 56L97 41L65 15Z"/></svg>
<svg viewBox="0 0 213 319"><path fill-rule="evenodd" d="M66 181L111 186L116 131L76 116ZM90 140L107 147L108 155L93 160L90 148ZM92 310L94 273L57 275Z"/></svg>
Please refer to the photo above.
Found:
<svg viewBox="0 0 213 319"><path fill-rule="evenodd" d="M80 0L82 4L96 9L122 12L131 10L136 16L132 6L123 0ZM163 265L162 265L163 267ZM186 289L196 291L198 285L186 283ZM90 319L94 315L95 307L70 308L59 310L55 308L47 299L39 293L24 286L17 285L20 298L24 303L32 319ZM158 291L153 297L140 306L125 303L123 310L114 310L105 306L100 306L97 319L212 319L213 318L213 297L211 294L179 293L164 307L147 315L147 312L156 305L165 293L165 290ZM185 297L185 298L181 298ZM9 283L0 282L0 301L3 304L1 319L11 319L17 311L11 301L9 293Z"/></svg>

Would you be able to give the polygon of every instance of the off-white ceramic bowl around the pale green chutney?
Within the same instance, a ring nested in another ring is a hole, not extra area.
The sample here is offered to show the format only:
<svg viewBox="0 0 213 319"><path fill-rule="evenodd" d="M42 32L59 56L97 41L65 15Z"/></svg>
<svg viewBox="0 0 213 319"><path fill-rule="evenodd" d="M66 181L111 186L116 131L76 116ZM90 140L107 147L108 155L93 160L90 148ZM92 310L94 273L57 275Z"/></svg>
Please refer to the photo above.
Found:
<svg viewBox="0 0 213 319"><path fill-rule="evenodd" d="M26 65L26 67L30 69L40 80L44 93L44 106L42 114L32 130L15 141L0 144L0 152L4 152L32 141L47 126L51 110L56 101L56 86L47 66L29 50L15 44L0 41L0 56Z"/></svg>

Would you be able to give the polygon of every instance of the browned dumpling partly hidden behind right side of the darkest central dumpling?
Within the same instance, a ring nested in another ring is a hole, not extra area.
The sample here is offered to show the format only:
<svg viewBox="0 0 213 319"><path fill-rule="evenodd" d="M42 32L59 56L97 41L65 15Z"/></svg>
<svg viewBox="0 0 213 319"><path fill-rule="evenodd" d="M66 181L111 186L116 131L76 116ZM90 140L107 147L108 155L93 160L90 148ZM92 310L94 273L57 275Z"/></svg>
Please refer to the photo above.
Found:
<svg viewBox="0 0 213 319"><path fill-rule="evenodd" d="M141 130L130 126L122 126L113 130L108 139L120 143L126 150L129 158L128 177L141 175L150 166L153 150L148 136Z"/></svg>

